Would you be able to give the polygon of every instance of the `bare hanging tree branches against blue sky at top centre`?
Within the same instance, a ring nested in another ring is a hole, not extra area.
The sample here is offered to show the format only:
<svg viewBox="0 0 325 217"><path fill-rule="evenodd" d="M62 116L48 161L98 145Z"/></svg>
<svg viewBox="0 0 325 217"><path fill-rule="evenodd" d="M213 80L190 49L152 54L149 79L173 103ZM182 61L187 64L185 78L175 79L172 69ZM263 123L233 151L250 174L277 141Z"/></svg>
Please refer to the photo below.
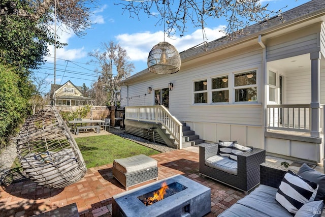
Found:
<svg viewBox="0 0 325 217"><path fill-rule="evenodd" d="M179 32L183 36L188 22L193 27L204 29L207 19L225 18L227 24L223 29L225 34L235 37L241 30L252 22L269 20L278 11L268 10L268 5L262 6L259 0L165 0L163 1L121 1L114 3L121 5L123 13L129 17L138 17L145 13L148 17L158 11L160 22L167 18L166 33L173 36Z"/></svg>

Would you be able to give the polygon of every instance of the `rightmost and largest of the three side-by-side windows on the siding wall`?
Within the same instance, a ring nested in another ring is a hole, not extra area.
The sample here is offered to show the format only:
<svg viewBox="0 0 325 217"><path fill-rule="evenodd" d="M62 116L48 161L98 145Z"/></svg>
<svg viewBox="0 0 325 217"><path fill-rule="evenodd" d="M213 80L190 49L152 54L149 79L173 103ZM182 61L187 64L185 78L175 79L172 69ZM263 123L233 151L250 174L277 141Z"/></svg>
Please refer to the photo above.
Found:
<svg viewBox="0 0 325 217"><path fill-rule="evenodd" d="M256 71L235 74L235 102L257 101Z"/></svg>

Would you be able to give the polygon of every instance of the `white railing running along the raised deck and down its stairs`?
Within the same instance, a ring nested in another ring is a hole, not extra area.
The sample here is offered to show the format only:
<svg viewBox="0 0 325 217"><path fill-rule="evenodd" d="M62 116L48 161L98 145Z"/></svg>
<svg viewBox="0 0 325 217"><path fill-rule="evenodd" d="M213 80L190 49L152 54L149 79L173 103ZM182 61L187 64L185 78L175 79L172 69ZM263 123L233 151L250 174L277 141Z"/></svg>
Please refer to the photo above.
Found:
<svg viewBox="0 0 325 217"><path fill-rule="evenodd" d="M125 119L161 123L182 148L182 123L165 106L127 106Z"/></svg>

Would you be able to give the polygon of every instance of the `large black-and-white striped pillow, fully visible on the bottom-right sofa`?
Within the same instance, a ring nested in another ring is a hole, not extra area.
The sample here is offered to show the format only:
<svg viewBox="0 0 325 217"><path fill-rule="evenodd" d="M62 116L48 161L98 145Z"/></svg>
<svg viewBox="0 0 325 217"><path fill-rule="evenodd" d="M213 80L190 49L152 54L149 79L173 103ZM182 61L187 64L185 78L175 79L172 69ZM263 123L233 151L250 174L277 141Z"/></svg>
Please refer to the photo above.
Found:
<svg viewBox="0 0 325 217"><path fill-rule="evenodd" d="M275 200L295 215L304 204L314 201L317 190L317 183L303 179L289 170L281 181Z"/></svg>

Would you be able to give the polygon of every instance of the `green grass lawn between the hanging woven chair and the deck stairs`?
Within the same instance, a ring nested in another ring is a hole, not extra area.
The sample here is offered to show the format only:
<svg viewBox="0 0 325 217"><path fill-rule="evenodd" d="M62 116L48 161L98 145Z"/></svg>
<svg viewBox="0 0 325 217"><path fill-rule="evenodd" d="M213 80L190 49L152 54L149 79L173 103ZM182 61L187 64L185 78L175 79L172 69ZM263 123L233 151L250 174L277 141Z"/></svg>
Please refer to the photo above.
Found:
<svg viewBox="0 0 325 217"><path fill-rule="evenodd" d="M138 154L150 156L160 153L116 135L75 138L87 168L112 164L114 159L127 158Z"/></svg>

